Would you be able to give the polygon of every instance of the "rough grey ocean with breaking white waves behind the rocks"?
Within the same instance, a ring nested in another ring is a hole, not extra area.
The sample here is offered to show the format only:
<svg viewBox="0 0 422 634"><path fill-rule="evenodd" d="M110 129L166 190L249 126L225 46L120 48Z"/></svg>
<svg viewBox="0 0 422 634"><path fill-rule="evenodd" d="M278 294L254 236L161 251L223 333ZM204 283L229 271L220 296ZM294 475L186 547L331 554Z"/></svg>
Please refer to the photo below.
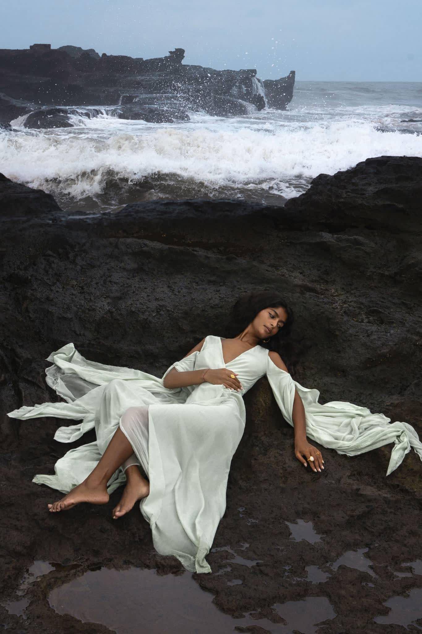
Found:
<svg viewBox="0 0 422 634"><path fill-rule="evenodd" d="M180 198L282 205L321 172L379 155L422 157L422 82L297 81L287 111L190 112L175 124L117 119L113 108L69 108L73 127L63 129L16 119L0 132L0 172L72 210Z"/></svg>

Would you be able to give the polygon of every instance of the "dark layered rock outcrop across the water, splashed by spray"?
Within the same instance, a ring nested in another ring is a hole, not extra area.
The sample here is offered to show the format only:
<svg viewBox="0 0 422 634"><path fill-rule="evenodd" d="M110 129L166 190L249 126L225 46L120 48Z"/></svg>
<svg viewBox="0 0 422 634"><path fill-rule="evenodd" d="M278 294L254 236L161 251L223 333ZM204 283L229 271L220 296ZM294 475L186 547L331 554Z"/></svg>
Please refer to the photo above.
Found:
<svg viewBox="0 0 422 634"><path fill-rule="evenodd" d="M182 48L144 60L106 53L100 57L94 49L77 46L34 46L0 49L0 93L8 100L26 101L27 108L21 114L39 110L40 104L42 108L120 105L123 97L132 98L141 110L153 95L156 101L177 99L184 113L204 110L230 117L250 113L251 109L259 111L266 105L284 109L293 96L293 71L267 84L256 77L254 68L215 70L183 64ZM7 113L0 103L0 121L8 123L15 118ZM47 115L43 115L39 127L46 122Z"/></svg>

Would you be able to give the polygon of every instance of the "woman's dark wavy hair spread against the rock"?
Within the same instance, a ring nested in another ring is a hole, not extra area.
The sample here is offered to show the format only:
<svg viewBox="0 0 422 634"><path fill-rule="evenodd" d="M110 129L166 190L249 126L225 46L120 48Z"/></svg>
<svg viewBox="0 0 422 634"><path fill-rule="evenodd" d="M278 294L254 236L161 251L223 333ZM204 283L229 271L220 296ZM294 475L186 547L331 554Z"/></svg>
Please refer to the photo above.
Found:
<svg viewBox="0 0 422 634"><path fill-rule="evenodd" d="M227 321L226 331L228 337L237 337L240 332L249 326L258 313L269 306L275 308L282 306L287 313L287 321L282 328L279 328L275 335L270 337L270 341L264 342L261 340L259 345L268 350L274 350L280 354L280 356L282 356L282 352L289 354L291 353L291 344L289 342L289 345L287 345L287 342L292 330L294 316L292 308L278 290L252 290L249 293L241 295L233 306L232 316L230 316L230 319Z"/></svg>

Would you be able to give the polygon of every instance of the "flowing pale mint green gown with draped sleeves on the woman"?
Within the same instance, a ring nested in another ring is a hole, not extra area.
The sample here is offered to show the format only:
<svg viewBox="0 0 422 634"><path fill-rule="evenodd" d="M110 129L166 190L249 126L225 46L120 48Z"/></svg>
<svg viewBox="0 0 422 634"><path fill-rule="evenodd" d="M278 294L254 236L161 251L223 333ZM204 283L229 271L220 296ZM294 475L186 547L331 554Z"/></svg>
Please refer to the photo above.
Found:
<svg viewBox="0 0 422 634"><path fill-rule="evenodd" d="M422 460L422 444L416 431L404 422L390 424L383 414L367 408L332 401L320 404L320 392L302 387L255 346L225 364L220 337L208 335L201 351L173 363L162 378L141 370L104 365L81 356L73 344L51 353L47 384L65 402L23 406L8 413L11 418L53 416L79 421L59 427L54 439L71 443L95 428L96 441L68 451L54 466L54 475L35 475L33 482L68 493L96 467L128 408L148 407L148 446L143 452L134 439L133 450L149 477L150 493L140 501L140 511L152 531L156 551L175 555L185 569L209 573L206 561L216 529L226 508L228 472L245 427L242 396L266 375L285 420L293 426L295 390L306 413L308 439L354 456L394 443L387 475L414 448ZM241 392L204 382L169 389L163 379L171 368L178 372L227 367L237 372ZM277 442L276 437L274 442ZM124 484L119 468L108 482L108 492Z"/></svg>

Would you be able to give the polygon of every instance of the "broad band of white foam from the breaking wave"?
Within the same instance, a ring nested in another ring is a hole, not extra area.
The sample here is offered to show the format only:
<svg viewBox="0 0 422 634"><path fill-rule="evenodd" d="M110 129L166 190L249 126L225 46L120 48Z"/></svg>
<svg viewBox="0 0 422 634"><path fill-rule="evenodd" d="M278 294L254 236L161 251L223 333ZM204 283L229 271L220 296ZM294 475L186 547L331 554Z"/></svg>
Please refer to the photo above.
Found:
<svg viewBox="0 0 422 634"><path fill-rule="evenodd" d="M85 119L85 126L101 125L101 119L104 133L106 115ZM119 122L114 119L113 128ZM15 181L76 199L102 193L111 177L133 183L157 174L189 179L211 190L251 185L266 190L272 181L272 191L292 196L321 172L333 174L368 157L422 156L422 136L382 133L371 124L350 120L328 126L270 125L267 131L265 126L154 126L145 134L139 122L131 134L128 123L109 136L68 130L1 133L0 171Z"/></svg>

